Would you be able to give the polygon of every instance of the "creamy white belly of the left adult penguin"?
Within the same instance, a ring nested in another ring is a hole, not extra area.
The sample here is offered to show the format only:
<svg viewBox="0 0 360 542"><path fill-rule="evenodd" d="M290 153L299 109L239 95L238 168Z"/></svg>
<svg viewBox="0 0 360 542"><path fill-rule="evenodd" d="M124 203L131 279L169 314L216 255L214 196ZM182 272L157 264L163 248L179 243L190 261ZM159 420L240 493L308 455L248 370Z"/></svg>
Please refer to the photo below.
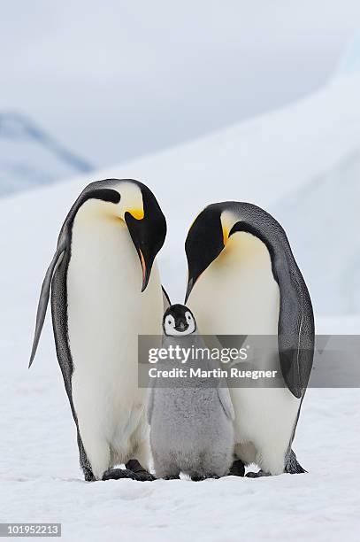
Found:
<svg viewBox="0 0 360 542"><path fill-rule="evenodd" d="M100 457L105 443L112 462L122 462L147 438L137 342L138 335L160 334L163 301L156 264L141 290L142 268L126 226L114 220L75 221L67 273L73 404L95 471L96 464L106 462Z"/></svg>

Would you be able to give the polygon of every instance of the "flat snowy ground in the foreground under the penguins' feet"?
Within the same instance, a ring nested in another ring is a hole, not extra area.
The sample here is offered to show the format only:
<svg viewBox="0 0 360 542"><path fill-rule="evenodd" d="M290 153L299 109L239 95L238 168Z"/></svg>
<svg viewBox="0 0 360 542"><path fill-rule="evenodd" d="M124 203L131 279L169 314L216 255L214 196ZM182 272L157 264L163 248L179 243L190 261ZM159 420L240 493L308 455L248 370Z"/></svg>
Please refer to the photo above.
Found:
<svg viewBox="0 0 360 542"><path fill-rule="evenodd" d="M25 279L30 290L29 267L24 261L13 279ZM309 474L86 483L49 325L34 368L27 371L33 313L31 304L24 312L2 311L2 522L61 522L65 540L96 542L358 540L358 390L308 392L295 450ZM340 323L330 322L336 329ZM325 321L322 329L333 328Z"/></svg>

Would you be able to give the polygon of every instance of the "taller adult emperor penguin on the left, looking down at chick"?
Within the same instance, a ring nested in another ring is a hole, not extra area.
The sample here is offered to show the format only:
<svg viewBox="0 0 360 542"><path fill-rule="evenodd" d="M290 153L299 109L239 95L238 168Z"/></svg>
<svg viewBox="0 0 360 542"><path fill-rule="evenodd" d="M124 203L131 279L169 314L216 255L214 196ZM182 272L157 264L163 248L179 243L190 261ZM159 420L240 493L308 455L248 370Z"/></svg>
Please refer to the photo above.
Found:
<svg viewBox="0 0 360 542"><path fill-rule="evenodd" d="M154 260L165 235L165 216L142 182L92 182L65 219L42 283L29 365L51 288L57 359L88 481L152 477L137 341L162 331L163 292ZM126 469L111 469L120 463Z"/></svg>

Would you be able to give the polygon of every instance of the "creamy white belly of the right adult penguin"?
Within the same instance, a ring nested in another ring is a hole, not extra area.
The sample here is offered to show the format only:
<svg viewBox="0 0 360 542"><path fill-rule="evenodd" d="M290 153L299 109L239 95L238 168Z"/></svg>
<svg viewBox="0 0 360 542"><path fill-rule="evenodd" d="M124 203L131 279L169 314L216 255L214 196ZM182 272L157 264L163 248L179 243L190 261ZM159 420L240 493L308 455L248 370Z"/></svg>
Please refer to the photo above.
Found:
<svg viewBox="0 0 360 542"><path fill-rule="evenodd" d="M230 236L224 251L195 284L188 306L203 334L276 336L280 291L266 246L245 232ZM262 368L270 368L266 359L262 363ZM272 474L282 472L299 399L285 387L231 388L230 394L236 452Z"/></svg>

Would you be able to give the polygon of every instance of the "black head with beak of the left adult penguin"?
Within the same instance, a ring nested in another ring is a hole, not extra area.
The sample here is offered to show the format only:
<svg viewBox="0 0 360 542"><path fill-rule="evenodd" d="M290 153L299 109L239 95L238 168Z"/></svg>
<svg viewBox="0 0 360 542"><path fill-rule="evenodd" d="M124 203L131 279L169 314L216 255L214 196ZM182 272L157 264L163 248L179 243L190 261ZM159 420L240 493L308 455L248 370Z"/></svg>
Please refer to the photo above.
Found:
<svg viewBox="0 0 360 542"><path fill-rule="evenodd" d="M124 220L142 266L142 291L149 283L151 268L157 252L164 244L166 221L154 194L142 182L136 182L142 192L142 212L136 209L124 213Z"/></svg>

